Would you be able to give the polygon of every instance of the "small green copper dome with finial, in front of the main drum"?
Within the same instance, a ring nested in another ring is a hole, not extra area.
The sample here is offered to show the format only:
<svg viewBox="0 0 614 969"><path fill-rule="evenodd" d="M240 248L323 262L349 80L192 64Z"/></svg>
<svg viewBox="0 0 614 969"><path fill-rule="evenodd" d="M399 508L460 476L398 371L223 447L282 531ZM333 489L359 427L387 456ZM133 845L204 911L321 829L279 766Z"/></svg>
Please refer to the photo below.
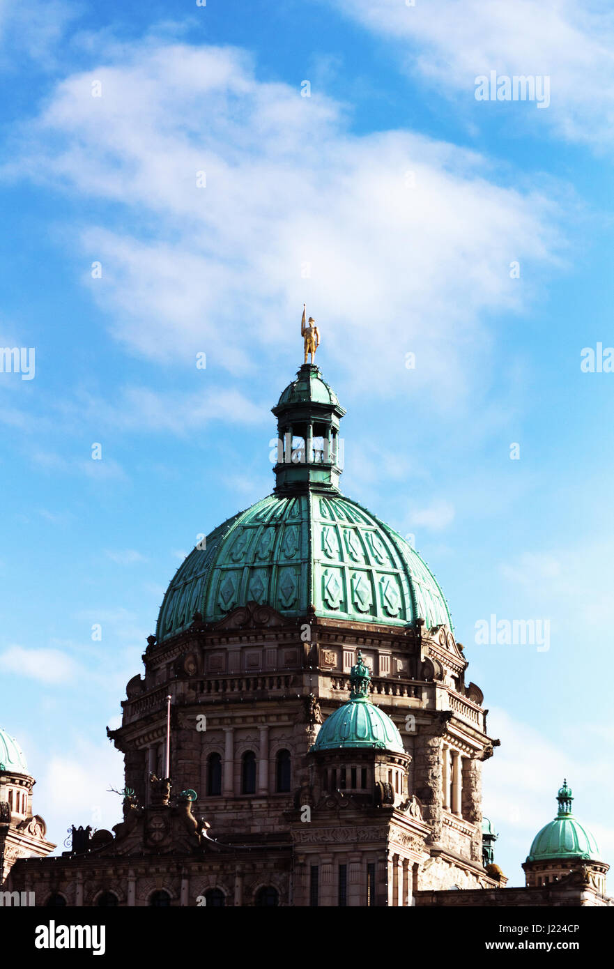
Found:
<svg viewBox="0 0 614 969"><path fill-rule="evenodd" d="M395 724L369 699L369 679L368 667L359 652L358 662L350 674L350 700L326 717L312 751L360 747L405 753Z"/></svg>

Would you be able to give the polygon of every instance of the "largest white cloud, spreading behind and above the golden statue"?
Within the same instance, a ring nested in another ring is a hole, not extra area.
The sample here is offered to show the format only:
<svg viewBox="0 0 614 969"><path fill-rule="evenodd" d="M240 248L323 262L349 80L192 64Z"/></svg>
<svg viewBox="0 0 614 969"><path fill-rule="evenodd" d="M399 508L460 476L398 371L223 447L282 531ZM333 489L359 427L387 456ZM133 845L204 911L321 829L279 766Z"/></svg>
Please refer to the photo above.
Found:
<svg viewBox="0 0 614 969"><path fill-rule="evenodd" d="M337 104L259 81L233 48L103 52L58 85L15 153L5 177L124 206L99 225L87 212L73 239L92 295L130 350L159 363L204 352L207 374L298 355L306 299L322 362L345 363L354 387L449 407L489 357L486 315L531 296L510 262L548 264L560 245L542 193L500 187L483 158L408 131L351 135ZM143 393L141 413L176 425L176 408ZM205 401L245 414L242 395Z"/></svg>

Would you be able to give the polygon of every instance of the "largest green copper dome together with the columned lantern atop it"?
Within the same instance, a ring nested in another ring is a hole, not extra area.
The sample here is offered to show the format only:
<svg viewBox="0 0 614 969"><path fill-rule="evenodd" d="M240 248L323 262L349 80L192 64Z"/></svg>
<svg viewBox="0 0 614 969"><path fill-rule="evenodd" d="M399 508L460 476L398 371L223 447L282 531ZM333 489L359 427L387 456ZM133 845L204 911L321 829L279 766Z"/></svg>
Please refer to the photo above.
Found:
<svg viewBox="0 0 614 969"><path fill-rule="evenodd" d="M196 612L217 622L248 602L282 615L316 615L427 628L452 626L444 594L397 532L337 486L339 419L345 414L318 367L305 364L273 408L277 486L206 536L165 594L158 642L187 629ZM293 442L299 438L302 446ZM292 450L294 449L294 450Z"/></svg>

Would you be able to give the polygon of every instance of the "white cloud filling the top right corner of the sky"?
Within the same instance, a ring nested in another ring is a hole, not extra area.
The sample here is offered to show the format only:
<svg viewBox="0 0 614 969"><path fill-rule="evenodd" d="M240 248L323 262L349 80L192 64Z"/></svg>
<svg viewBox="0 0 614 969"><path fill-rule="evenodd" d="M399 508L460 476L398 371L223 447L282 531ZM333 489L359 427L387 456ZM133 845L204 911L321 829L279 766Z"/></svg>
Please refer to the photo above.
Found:
<svg viewBox="0 0 614 969"><path fill-rule="evenodd" d="M551 78L551 103L507 104L519 117L552 126L570 141L612 143L614 18L608 0L430 0L407 7L399 0L332 0L369 30L391 39L404 68L440 94L475 99L475 79ZM480 104L484 118L492 104Z"/></svg>

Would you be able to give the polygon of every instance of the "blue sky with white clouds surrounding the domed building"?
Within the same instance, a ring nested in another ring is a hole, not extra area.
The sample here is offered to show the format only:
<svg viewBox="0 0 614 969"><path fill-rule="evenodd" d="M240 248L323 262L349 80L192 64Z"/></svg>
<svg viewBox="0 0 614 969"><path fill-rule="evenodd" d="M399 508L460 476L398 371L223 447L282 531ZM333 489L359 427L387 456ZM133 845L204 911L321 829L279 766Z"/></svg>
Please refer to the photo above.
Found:
<svg viewBox="0 0 614 969"><path fill-rule="evenodd" d="M414 534L501 737L497 860L520 884L563 776L614 860L614 374L580 369L613 35L567 0L0 0L0 345L35 348L0 374L0 722L53 840L118 820L105 726L182 557L272 486L306 301L344 490ZM548 107L476 101L490 71ZM491 614L549 649L476 643Z"/></svg>

